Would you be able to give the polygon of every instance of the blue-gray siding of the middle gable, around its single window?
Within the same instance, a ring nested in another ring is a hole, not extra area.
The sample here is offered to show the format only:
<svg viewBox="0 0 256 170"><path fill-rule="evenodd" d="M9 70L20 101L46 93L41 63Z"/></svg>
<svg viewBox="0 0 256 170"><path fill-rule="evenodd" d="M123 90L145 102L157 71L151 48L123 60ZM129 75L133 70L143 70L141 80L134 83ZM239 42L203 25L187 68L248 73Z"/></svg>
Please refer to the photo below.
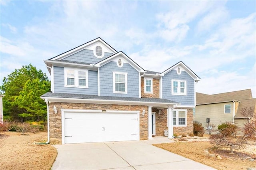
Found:
<svg viewBox="0 0 256 170"><path fill-rule="evenodd" d="M113 71L127 73L127 94L113 92ZM130 64L118 67L111 61L100 67L100 95L115 97L139 97L139 73Z"/></svg>

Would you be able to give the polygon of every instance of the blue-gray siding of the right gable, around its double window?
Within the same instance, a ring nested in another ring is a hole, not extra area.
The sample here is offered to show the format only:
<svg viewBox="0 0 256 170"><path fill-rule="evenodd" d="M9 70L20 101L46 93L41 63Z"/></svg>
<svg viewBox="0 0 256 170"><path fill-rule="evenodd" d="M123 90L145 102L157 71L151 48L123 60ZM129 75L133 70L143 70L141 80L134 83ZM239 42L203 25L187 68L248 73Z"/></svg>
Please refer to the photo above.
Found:
<svg viewBox="0 0 256 170"><path fill-rule="evenodd" d="M175 80L186 80L187 95L172 95L172 79ZM177 74L176 70L168 72L162 77L162 98L172 101L177 101L181 105L192 105L194 106L194 79L182 71L180 75Z"/></svg>

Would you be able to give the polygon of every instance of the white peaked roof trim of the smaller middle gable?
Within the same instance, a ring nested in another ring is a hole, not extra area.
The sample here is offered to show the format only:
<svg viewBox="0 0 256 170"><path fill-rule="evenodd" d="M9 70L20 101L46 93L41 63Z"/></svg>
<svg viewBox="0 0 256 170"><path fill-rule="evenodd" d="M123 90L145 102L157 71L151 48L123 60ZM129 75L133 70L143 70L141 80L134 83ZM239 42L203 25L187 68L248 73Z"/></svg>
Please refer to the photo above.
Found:
<svg viewBox="0 0 256 170"><path fill-rule="evenodd" d="M139 72L145 73L145 70L142 69L142 67L140 67L137 63L135 63L134 61L132 61L132 59L130 59L125 53L123 53L122 51L119 51L118 53L98 62L95 64L96 67L101 67L102 65L105 65L107 63L109 63L110 61L112 61L114 58L118 57L118 56L122 56L124 57L127 61L129 61L129 64L132 65L132 67L134 67L134 69L136 69Z"/></svg>

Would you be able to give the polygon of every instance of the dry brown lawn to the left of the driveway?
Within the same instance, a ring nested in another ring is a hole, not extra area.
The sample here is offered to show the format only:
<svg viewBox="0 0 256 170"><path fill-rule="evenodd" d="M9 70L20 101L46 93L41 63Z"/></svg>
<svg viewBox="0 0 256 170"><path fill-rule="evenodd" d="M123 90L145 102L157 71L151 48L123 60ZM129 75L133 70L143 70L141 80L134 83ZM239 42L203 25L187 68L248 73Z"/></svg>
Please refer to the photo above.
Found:
<svg viewBox="0 0 256 170"><path fill-rule="evenodd" d="M4 134L4 135L2 135ZM51 145L38 145L47 140L46 132L4 132L0 135L0 169L2 170L49 170L57 156ZM5 136L6 135L6 136Z"/></svg>

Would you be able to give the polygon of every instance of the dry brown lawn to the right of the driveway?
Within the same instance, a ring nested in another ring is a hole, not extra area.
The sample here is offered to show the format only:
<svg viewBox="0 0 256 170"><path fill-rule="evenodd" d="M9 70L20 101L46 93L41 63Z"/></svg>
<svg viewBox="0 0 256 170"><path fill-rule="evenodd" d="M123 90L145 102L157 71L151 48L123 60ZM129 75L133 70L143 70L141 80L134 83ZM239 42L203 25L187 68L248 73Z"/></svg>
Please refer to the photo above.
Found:
<svg viewBox="0 0 256 170"><path fill-rule="evenodd" d="M250 154L252 158L255 158L255 141L252 141L251 144L252 145L248 145L246 148L240 150L240 152L242 151L244 153ZM221 156L222 159L218 159L217 156L211 156L210 154L214 154L211 151L213 145L210 144L209 141L176 141L173 143L154 144L154 146L179 154L218 170L246 170L247 168L256 168L256 160L252 162L248 159L232 159L224 158L223 156ZM210 153L205 152L206 149L209 150Z"/></svg>

